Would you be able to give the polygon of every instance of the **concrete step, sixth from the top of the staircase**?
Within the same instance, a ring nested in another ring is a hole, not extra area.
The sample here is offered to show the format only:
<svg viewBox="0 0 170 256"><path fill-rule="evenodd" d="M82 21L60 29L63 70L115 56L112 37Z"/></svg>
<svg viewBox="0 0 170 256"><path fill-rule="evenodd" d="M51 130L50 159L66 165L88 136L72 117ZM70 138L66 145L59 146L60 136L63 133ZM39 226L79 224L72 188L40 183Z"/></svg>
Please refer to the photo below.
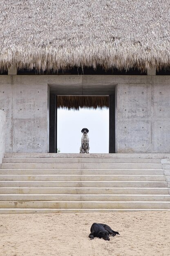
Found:
<svg viewBox="0 0 170 256"><path fill-rule="evenodd" d="M167 187L161 181L1 181L0 187Z"/></svg>

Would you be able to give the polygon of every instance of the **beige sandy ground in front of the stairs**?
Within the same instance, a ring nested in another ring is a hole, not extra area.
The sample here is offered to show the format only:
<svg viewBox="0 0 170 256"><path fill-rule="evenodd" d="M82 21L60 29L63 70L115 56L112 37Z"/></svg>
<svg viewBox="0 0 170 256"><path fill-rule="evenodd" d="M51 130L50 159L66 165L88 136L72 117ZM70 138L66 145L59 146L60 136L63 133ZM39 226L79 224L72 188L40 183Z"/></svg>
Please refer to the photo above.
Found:
<svg viewBox="0 0 170 256"><path fill-rule="evenodd" d="M90 240L93 222L121 235ZM2 214L0 255L170 256L170 212Z"/></svg>

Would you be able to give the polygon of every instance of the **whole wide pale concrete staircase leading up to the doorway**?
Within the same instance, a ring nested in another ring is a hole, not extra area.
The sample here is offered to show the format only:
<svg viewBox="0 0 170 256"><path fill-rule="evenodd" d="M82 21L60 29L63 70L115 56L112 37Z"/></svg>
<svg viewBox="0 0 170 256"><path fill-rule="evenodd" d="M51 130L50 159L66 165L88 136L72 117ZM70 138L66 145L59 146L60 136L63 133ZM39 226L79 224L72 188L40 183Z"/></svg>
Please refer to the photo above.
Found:
<svg viewBox="0 0 170 256"><path fill-rule="evenodd" d="M168 156L6 153L0 213L170 210Z"/></svg>

